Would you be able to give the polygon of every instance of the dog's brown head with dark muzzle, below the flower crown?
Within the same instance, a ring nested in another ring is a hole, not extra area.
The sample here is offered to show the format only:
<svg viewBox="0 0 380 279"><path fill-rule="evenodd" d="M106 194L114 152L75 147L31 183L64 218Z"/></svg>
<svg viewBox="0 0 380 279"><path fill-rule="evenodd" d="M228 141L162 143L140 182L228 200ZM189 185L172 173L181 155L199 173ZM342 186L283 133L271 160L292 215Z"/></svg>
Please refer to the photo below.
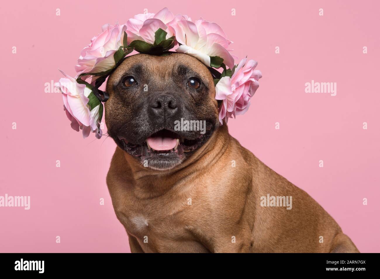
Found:
<svg viewBox="0 0 380 279"><path fill-rule="evenodd" d="M213 77L187 54L129 56L108 78L106 91L109 135L152 169L180 165L220 125Z"/></svg>

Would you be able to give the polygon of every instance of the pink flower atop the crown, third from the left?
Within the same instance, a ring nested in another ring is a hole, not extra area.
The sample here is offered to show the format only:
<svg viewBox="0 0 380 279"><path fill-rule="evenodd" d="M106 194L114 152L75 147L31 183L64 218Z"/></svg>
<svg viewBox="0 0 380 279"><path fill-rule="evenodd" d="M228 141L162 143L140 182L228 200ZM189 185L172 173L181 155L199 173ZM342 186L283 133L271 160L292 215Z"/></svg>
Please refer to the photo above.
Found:
<svg viewBox="0 0 380 279"><path fill-rule="evenodd" d="M174 19L173 13L168 8L163 8L157 14L138 14L127 21L128 44L135 40L154 43L154 35L158 28L168 32L166 39L174 36L173 29L166 25Z"/></svg>

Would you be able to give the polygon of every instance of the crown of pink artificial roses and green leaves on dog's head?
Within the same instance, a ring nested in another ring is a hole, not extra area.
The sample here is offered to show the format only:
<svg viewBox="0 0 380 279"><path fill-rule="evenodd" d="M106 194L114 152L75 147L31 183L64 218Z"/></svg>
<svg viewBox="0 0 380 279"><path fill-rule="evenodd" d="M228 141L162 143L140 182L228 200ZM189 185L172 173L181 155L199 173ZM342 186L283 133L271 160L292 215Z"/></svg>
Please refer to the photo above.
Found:
<svg viewBox="0 0 380 279"><path fill-rule="evenodd" d="M152 55L187 53L209 67L221 124L223 119L227 122L228 118L244 114L259 87L261 72L255 70L257 62L244 58L236 65L237 57L229 49L231 41L214 22L174 16L164 8L156 14L138 14L126 24L106 24L101 29L82 49L75 66L76 77L61 71L65 77L59 80L63 108L71 127L81 129L84 138L90 132L101 137L102 102L106 102L108 94L99 87L133 50Z"/></svg>

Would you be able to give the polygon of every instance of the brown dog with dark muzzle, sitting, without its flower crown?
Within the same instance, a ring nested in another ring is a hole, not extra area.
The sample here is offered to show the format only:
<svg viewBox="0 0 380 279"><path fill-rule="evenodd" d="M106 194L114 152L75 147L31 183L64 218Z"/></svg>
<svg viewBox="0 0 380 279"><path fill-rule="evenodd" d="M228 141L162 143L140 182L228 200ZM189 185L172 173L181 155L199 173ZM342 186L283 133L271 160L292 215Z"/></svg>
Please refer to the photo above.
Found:
<svg viewBox="0 0 380 279"><path fill-rule="evenodd" d="M212 75L196 58L130 56L106 89L118 145L107 184L132 252L358 252L220 125ZM174 129L181 118L206 121L206 132Z"/></svg>

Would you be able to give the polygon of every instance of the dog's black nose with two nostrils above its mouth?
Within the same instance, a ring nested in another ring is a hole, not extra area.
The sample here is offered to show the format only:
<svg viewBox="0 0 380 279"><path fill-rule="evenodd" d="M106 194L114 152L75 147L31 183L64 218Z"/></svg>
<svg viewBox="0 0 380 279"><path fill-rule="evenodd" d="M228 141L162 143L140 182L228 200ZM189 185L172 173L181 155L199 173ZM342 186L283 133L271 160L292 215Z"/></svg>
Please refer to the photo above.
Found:
<svg viewBox="0 0 380 279"><path fill-rule="evenodd" d="M177 100L175 97L168 94L155 96L150 101L150 111L154 116L172 117L179 112Z"/></svg>

